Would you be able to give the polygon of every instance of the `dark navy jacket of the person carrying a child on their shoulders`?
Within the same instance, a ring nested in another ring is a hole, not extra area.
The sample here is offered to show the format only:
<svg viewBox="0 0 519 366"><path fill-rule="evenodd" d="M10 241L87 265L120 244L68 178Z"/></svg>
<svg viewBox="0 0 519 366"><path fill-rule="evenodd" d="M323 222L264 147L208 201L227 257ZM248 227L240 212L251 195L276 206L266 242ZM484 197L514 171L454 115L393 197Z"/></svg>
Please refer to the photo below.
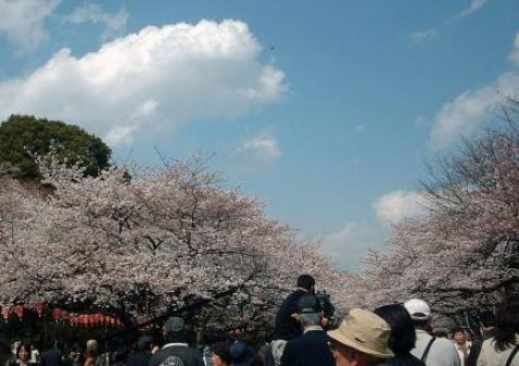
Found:
<svg viewBox="0 0 519 366"><path fill-rule="evenodd" d="M334 366L324 330L308 330L284 346L281 366Z"/></svg>

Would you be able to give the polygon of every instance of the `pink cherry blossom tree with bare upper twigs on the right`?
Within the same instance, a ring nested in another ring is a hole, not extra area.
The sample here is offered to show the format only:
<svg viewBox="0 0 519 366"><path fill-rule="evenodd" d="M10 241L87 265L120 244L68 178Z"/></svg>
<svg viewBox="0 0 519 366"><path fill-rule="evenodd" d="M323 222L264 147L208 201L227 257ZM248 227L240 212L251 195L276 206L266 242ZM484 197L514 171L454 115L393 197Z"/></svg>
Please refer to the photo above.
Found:
<svg viewBox="0 0 519 366"><path fill-rule="evenodd" d="M518 102L506 125L467 139L423 184L425 212L393 228L389 252L372 252L350 280L352 302L410 296L445 315L492 306L519 285Z"/></svg>

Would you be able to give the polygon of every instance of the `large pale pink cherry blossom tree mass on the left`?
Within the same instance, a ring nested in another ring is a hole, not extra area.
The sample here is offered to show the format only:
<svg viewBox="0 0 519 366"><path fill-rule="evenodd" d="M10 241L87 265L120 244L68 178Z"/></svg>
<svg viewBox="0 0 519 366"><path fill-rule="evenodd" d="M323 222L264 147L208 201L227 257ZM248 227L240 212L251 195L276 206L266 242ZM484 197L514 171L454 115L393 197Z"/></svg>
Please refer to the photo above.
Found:
<svg viewBox="0 0 519 366"><path fill-rule="evenodd" d="M129 325L139 314L217 299L201 321L221 314L265 324L302 272L341 283L315 243L296 245L289 227L225 187L204 159L135 167L131 179L123 167L91 177L40 161L40 171L53 187L43 198L0 190L12 207L0 213L3 303L45 300Z"/></svg>

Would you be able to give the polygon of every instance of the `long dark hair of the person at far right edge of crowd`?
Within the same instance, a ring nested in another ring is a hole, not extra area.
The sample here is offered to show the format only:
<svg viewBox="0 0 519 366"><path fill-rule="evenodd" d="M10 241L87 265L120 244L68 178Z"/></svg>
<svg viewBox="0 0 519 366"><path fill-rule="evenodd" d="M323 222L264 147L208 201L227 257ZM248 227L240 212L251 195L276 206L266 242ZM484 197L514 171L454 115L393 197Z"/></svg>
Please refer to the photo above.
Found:
<svg viewBox="0 0 519 366"><path fill-rule="evenodd" d="M516 344L516 333L519 333L519 301L503 302L495 318L495 349L505 351Z"/></svg>

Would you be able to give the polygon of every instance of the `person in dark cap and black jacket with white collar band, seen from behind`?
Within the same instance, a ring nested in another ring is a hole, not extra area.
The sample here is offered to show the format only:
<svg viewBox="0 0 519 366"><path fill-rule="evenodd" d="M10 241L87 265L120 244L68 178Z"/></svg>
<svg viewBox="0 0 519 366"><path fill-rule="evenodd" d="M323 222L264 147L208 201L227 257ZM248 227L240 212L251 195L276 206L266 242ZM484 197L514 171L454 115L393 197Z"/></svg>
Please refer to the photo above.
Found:
<svg viewBox="0 0 519 366"><path fill-rule="evenodd" d="M185 324L170 317L162 328L166 344L150 359L148 366L203 366L200 353L185 341Z"/></svg>

